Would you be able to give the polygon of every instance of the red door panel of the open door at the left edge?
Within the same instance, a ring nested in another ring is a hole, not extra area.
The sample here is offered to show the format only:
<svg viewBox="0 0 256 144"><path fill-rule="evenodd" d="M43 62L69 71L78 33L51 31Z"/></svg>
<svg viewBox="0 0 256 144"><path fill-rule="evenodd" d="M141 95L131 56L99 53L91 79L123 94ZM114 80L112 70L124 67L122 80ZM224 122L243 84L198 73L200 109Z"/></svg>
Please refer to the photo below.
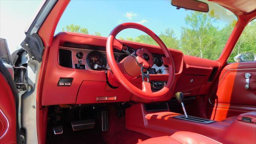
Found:
<svg viewBox="0 0 256 144"><path fill-rule="evenodd" d="M16 108L14 95L0 73L0 144L16 143Z"/></svg>

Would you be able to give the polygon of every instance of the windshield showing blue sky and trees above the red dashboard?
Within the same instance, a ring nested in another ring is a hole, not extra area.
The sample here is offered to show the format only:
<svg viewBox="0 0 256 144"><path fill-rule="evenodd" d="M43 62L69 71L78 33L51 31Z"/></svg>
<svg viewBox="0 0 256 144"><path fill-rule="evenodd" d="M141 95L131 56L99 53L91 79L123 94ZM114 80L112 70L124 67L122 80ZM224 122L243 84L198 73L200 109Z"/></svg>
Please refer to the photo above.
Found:
<svg viewBox="0 0 256 144"><path fill-rule="evenodd" d="M155 32L168 48L184 54L216 60L237 21L225 8L207 2L209 12L177 10L169 0L73 0L55 34L62 31L108 36L124 22L136 22ZM144 32L126 29L118 39L157 45Z"/></svg>

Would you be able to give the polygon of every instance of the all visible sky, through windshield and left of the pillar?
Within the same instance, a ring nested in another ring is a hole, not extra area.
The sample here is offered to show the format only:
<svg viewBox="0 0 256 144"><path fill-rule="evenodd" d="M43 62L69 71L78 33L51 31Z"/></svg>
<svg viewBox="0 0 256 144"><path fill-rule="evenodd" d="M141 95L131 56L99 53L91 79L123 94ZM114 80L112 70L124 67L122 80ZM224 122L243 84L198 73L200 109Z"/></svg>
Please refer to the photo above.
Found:
<svg viewBox="0 0 256 144"><path fill-rule="evenodd" d="M0 37L6 38L10 52L20 48L25 38L24 30L34 12L40 5L40 0L0 0ZM209 5L210 9L218 9L222 15L218 26L222 28L236 17L228 16L230 12L220 6ZM167 28L173 29L177 38L181 34L181 26L185 26L184 18L190 10L176 10L170 0L72 0L62 15L55 34L69 24L87 28L89 34L100 32L108 36L111 30L124 22L140 23L156 34L161 34ZM231 18L231 19L230 19ZM143 32L127 29L117 37L136 37Z"/></svg>

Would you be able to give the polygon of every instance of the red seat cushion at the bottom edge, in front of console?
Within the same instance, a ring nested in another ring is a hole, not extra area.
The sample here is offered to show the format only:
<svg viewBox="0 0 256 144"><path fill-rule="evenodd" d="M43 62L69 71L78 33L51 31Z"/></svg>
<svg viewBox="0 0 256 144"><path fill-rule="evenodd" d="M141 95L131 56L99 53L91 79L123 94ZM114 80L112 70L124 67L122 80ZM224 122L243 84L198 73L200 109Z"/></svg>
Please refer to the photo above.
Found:
<svg viewBox="0 0 256 144"><path fill-rule="evenodd" d="M171 136L161 136L144 140L139 144L221 144L216 140L194 132L175 132Z"/></svg>

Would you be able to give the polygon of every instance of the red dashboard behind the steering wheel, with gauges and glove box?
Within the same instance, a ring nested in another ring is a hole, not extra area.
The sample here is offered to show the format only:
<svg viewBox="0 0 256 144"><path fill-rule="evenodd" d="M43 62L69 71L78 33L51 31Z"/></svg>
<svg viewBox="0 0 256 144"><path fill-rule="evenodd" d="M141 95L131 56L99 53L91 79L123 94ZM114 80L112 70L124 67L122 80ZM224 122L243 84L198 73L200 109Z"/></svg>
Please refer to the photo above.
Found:
<svg viewBox="0 0 256 144"><path fill-rule="evenodd" d="M46 61L42 90L42 105L56 104L94 104L105 102L152 102L133 96L123 86L111 91L106 90L108 62L106 60L106 37L61 32L54 37ZM158 46L122 41L133 49L146 48L156 57L152 67L150 81L166 82L168 68L159 64L157 59L163 52ZM64 52L63 52L64 51ZM81 53L79 53L81 52ZM172 90L163 98L154 101L166 101L174 92L182 91L185 96L207 94L220 64L217 61L183 55L170 49L175 67L175 80ZM116 62L124 53L115 51ZM70 55L70 57L68 57ZM100 59L99 59L100 58ZM202 62L203 61L203 62ZM103 69L94 68L94 64ZM60 80L70 80L70 85L60 86ZM142 78L131 80L134 86L141 88Z"/></svg>

